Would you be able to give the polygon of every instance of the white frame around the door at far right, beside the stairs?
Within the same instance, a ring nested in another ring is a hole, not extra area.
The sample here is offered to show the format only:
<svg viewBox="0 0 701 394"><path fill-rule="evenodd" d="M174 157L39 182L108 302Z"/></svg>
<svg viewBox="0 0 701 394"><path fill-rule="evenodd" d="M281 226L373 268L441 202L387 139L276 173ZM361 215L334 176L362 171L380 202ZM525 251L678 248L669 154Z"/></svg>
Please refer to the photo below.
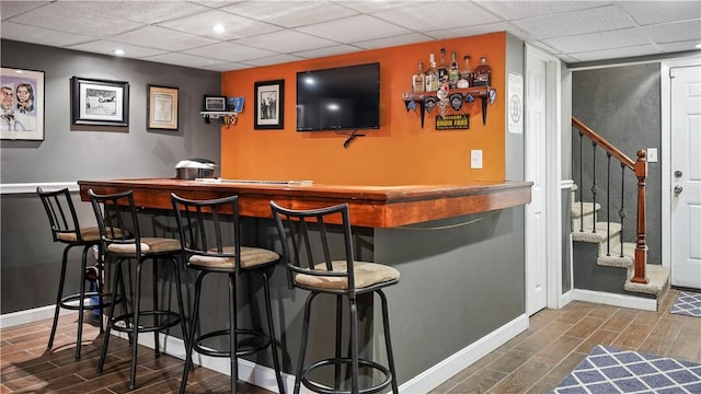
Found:
<svg viewBox="0 0 701 394"><path fill-rule="evenodd" d="M662 117L662 265L671 269L671 69L701 66L701 58L663 60L659 63Z"/></svg>

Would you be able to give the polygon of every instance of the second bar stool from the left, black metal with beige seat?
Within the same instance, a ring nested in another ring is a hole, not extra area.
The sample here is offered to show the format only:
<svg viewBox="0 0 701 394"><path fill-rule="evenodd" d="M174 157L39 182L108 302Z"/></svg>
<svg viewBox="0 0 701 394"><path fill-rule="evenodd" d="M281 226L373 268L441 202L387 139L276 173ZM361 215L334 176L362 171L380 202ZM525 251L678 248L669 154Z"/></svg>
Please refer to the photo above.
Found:
<svg viewBox="0 0 701 394"><path fill-rule="evenodd" d="M110 345L110 331L114 329L127 333L131 341L131 370L129 376L129 390L136 389L136 366L137 349L140 333L153 333L154 354L160 356L159 333L181 325L183 338L187 338L185 328L185 315L183 308L183 297L181 292L180 264L177 257L181 255L180 241L170 237L147 237L141 236L139 231L139 222L137 210L134 205L134 194L131 190L97 195L92 189L88 190L90 201L97 219L101 235L101 256L112 257L116 260L113 293L120 293L126 298L124 274L129 274L129 267L125 269L123 266L129 264L131 259L136 260L136 270L134 276L136 285L134 286L134 312L129 313L125 310L124 314L114 315L114 304L110 306L107 315L107 327L105 329L105 339L102 347L102 354L97 363L97 372L102 373L105 357L107 356L107 346ZM115 232L114 229L124 229L126 231ZM128 231L128 233L127 233ZM152 260L152 287L153 287L153 304L151 310L142 310L141 305L141 268L145 262ZM171 266L175 276L175 294L177 297L177 312L165 310L159 305L158 301L158 263L166 260ZM145 320L147 320L145 322Z"/></svg>

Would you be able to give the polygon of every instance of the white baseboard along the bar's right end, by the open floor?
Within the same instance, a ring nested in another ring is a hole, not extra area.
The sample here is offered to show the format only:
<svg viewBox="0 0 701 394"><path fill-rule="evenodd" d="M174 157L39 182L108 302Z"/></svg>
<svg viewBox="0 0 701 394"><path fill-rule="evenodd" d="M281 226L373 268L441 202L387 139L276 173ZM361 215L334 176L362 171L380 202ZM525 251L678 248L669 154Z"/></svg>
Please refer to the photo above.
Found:
<svg viewBox="0 0 701 394"><path fill-rule="evenodd" d="M526 329L528 329L528 316L522 314L409 380L399 387L399 391L400 393L428 393Z"/></svg>

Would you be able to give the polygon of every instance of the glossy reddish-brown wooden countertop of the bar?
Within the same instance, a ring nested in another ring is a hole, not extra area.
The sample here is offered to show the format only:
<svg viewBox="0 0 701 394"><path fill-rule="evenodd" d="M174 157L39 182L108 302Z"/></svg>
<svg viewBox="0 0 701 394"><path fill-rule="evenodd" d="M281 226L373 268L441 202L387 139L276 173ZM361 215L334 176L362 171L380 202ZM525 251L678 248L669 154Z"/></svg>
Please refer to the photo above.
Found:
<svg viewBox="0 0 701 394"><path fill-rule="evenodd" d="M292 209L321 208L348 202L353 225L393 228L429 220L510 208L530 202L531 182L474 182L449 185L354 186L308 182L135 178L79 181L88 190L112 194L134 190L137 207L171 210L171 193L208 199L239 195L242 216L271 218L269 201Z"/></svg>

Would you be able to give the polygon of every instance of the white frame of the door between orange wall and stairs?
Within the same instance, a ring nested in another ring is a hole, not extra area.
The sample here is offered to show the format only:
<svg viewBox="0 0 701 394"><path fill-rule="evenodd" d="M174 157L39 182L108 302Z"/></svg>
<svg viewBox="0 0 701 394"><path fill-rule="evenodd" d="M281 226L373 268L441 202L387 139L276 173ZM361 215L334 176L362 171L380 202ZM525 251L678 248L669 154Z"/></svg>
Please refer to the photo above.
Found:
<svg viewBox="0 0 701 394"><path fill-rule="evenodd" d="M533 56L539 58L540 60L545 61L545 101L548 111L548 119L545 120L545 149L549 152L547 154L547 169L545 169L545 183L543 187L545 188L545 233L548 240L561 240L562 239L562 220L561 220L561 211L562 211L562 195L560 192L560 179L562 176L561 169L561 158L562 158L562 147L561 147L561 114L562 114L562 90L561 90L561 61L555 56L548 54L537 47L530 46L526 44L525 48L525 65L528 63L528 57ZM526 70L526 73L528 70ZM527 80L527 79L526 79ZM526 108L528 108L528 103L525 103ZM526 116L528 112L526 111ZM525 123L528 125L528 121ZM525 144L529 142L530 134L528 129L526 129L526 141ZM533 158L526 158L527 165L526 167L532 167L533 162L531 161ZM526 174L528 175L528 174ZM525 218L528 221L528 217ZM528 228L528 225L526 225ZM537 242L538 240L533 240L532 237L527 237L528 243ZM529 247L533 247L533 245L526 245L526 250ZM548 289L545 293L548 294L547 299L547 308L551 309L560 309L564 306L564 301L562 297L562 245L560 242L545 242L545 256L547 256L547 286ZM526 269L530 269L536 262L531 262L529 255L526 254ZM528 275L526 275L528 278ZM528 283L526 283L528 286ZM526 288L526 296L528 297L528 287ZM526 300L526 308L528 311L529 300Z"/></svg>

